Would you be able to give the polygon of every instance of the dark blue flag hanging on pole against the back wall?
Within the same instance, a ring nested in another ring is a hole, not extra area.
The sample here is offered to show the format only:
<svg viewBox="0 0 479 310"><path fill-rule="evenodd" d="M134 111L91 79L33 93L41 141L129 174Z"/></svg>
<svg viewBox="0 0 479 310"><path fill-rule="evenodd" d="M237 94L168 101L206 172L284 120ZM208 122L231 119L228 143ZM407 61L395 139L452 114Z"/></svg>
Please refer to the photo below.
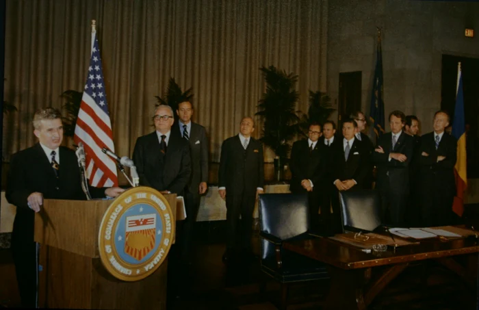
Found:
<svg viewBox="0 0 479 310"><path fill-rule="evenodd" d="M380 38L378 38L378 47L376 49L376 69L374 70L374 83L371 94L370 120L373 123L376 137L385 132L383 102L383 53L381 51Z"/></svg>

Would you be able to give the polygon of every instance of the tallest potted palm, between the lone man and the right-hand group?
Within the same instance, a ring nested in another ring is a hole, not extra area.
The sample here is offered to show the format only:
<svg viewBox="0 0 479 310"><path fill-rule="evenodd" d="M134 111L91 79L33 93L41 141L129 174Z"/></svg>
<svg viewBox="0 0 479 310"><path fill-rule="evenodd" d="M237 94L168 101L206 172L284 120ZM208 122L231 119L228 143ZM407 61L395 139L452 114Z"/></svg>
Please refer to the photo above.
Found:
<svg viewBox="0 0 479 310"><path fill-rule="evenodd" d="M298 75L274 66L261 67L260 70L266 81L266 92L259 100L259 111L256 113L263 120L260 140L274 151L274 168L279 172L291 148L290 141L300 128L296 112L299 94L295 88Z"/></svg>

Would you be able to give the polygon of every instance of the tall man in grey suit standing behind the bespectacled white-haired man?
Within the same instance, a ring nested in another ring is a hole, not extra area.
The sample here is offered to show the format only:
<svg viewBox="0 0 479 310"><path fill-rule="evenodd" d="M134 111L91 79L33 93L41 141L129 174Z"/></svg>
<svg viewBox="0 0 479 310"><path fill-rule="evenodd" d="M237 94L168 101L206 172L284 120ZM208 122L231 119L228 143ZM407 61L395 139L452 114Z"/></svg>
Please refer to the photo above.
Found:
<svg viewBox="0 0 479 310"><path fill-rule="evenodd" d="M208 185L208 140L205 127L192 122L193 105L185 101L178 105L179 116L176 132L190 143L192 174L185 189L186 219L183 222L182 259L190 261L193 227L200 206L200 195L205 194Z"/></svg>

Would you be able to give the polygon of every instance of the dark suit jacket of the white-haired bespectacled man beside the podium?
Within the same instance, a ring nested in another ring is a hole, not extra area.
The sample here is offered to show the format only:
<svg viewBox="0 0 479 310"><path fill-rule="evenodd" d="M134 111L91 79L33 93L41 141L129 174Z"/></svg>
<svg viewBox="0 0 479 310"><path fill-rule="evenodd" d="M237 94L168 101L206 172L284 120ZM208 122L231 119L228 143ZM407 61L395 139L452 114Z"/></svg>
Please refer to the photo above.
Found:
<svg viewBox="0 0 479 310"><path fill-rule="evenodd" d="M161 153L159 148L156 131L136 140L133 162L140 185L181 195L190 181L190 146L186 140L171 132L166 154Z"/></svg>

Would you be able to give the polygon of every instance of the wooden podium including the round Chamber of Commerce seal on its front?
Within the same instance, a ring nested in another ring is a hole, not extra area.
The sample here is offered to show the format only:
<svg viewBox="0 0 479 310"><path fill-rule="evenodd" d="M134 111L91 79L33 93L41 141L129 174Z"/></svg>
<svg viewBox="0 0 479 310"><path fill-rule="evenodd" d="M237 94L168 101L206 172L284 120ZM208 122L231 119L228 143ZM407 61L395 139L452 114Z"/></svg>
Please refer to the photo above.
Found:
<svg viewBox="0 0 479 310"><path fill-rule="evenodd" d="M149 263L148 272L152 273L138 281L136 279L118 279L109 270L119 270L123 274L135 275L138 273L141 275L141 272L147 272L145 270L148 270L148 266L135 269L137 267L130 268L133 266L130 263L147 261L147 259L153 261L155 257L152 258L152 255L154 254L148 253L148 250L150 252L151 249L155 250L155 240L161 240L161 233L166 233L169 225L172 226L170 227L172 230L171 243L174 241L177 195L163 195L170 205L169 210L173 217L172 223L168 221L168 225L166 225L165 221L161 220L163 216L157 216L155 222L155 212L151 211L153 208L148 202L139 201L134 205L135 201L133 201L133 205L131 205L131 197L133 199L137 196L140 197L142 193L138 191L141 192L141 189L147 192L148 190L156 192L151 188L139 187L125 191L114 201L49 199L44 201L42 211L35 217L35 241L40 244L38 255L39 307L166 309L167 251L161 260L155 259L154 263L157 263L159 267L156 266L157 269L153 272L154 264L153 262ZM141 197L145 198L145 196ZM125 207L127 203L130 203L132 207ZM137 214L132 213L133 207L136 208ZM148 209L149 207L151 209ZM119 209L122 209L123 214L115 213ZM104 215L105 220L103 220ZM146 220L144 220L145 216ZM114 220L118 222L117 227L112 227ZM144 227L148 229L141 229L142 227L135 226L135 223L138 225L146 223ZM105 227L106 233L104 233ZM103 233L100 231L101 229ZM123 231L120 232L122 229ZM152 233L148 235L148 231ZM146 239L145 236L150 239ZM103 237L108 239L106 241L111 241L113 246L103 245L105 243L105 240L102 240ZM161 242L168 244L168 240L163 239ZM141 244L143 250L138 250L140 249L139 246L136 246L138 244ZM105 256L105 254L101 256L101 246L106 249L114 247L115 255L118 252L118 257L115 259L112 255ZM108 265L110 260L112 264ZM118 262L123 262L127 268L119 267Z"/></svg>

